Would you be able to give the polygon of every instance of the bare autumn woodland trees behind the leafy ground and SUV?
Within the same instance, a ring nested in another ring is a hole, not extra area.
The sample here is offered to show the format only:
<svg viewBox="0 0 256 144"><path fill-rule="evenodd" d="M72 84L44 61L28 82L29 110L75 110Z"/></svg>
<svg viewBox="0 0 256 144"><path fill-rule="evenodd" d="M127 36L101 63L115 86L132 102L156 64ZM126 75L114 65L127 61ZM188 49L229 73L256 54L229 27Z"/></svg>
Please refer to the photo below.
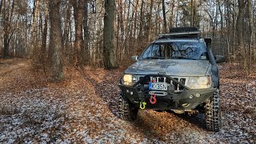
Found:
<svg viewBox="0 0 256 144"><path fill-rule="evenodd" d="M30 58L61 81L63 66L128 66L170 27L196 26L214 54L252 73L253 0L0 0L0 57Z"/></svg>

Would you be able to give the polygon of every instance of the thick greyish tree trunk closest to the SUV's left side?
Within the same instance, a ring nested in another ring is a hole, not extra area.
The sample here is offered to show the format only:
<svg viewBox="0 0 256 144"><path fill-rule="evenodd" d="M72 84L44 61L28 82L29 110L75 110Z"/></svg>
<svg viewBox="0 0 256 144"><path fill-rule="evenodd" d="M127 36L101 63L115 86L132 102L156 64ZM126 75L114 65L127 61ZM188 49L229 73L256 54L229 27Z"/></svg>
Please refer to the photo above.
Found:
<svg viewBox="0 0 256 144"><path fill-rule="evenodd" d="M115 0L106 0L103 29L103 63L106 69L114 69L118 67L116 62L114 19Z"/></svg>

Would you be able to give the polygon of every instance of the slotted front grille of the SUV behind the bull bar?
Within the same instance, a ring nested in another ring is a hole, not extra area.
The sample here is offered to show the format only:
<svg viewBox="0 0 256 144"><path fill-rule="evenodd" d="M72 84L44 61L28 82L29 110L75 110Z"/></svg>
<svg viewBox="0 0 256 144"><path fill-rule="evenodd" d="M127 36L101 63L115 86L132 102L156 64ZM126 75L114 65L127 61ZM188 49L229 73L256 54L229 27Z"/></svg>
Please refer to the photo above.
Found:
<svg viewBox="0 0 256 144"><path fill-rule="evenodd" d="M140 75L138 76L137 79L142 79L144 76ZM186 86L186 82L188 78L184 78L184 77L172 77L174 78L176 81L181 82L183 85ZM172 81L170 78L166 78L166 77L150 77L150 78L146 78L146 82L145 84L148 84L149 82L166 82L166 83L170 83L171 85L174 85L174 90L177 91L182 91L184 90L183 86L180 86L178 83Z"/></svg>

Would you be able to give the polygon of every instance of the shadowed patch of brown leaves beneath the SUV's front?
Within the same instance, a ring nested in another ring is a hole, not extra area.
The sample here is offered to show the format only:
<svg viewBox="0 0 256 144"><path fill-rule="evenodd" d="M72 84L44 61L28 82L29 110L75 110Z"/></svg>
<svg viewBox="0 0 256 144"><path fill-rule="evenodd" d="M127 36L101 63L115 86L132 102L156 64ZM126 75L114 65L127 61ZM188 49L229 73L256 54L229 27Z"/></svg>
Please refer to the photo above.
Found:
<svg viewBox="0 0 256 144"><path fill-rule="evenodd" d="M146 138L168 141L170 136L174 138L186 138L191 131L205 131L206 126L203 114L175 114L174 112L143 112L138 119L132 122L134 129L138 129ZM162 114L158 114L162 113ZM184 121L182 121L184 120ZM192 126L189 123L192 124ZM169 137L169 138L168 138Z"/></svg>

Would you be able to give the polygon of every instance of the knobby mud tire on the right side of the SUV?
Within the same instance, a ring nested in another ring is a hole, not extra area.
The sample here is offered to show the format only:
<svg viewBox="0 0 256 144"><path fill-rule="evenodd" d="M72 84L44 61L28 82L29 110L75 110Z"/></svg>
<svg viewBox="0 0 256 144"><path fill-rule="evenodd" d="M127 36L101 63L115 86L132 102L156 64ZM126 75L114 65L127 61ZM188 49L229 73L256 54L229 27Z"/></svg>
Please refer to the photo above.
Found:
<svg viewBox="0 0 256 144"><path fill-rule="evenodd" d="M206 129L218 131L222 127L221 102L219 90L206 100Z"/></svg>

